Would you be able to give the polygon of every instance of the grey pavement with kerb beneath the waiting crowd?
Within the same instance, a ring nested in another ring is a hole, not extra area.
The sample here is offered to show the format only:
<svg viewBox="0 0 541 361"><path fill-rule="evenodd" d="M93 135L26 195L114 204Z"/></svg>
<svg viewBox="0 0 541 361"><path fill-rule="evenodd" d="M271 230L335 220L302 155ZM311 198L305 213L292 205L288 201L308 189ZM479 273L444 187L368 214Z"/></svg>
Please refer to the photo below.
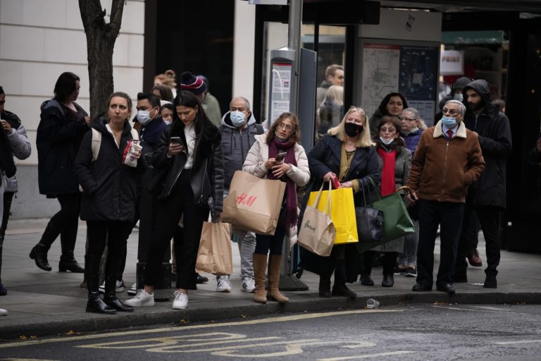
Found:
<svg viewBox="0 0 541 361"><path fill-rule="evenodd" d="M238 317L261 317L283 312L321 312L329 310L358 309L366 307L366 300L380 301L380 307L411 303L442 304L541 304L541 255L502 251L499 265L498 288L483 288L483 267L469 267L469 283L455 283L456 294L447 295L437 290L413 292L414 278L394 276L394 287L380 286L383 276L381 268L372 271L375 286L349 285L358 298L318 297L318 276L305 271L302 281L309 290L284 292L290 302L280 305L269 301L266 305L254 302L253 294L240 290L240 257L233 245L233 271L230 293L217 293L212 275L209 282L190 291L187 310L171 308L173 291L156 290L165 302L156 302L154 307L138 307L135 312L119 312L103 315L85 312L87 291L80 288L82 274L58 272L60 242L49 250L50 272L42 271L29 258L29 252L37 243L46 226L47 219L22 219L9 222L4 241L2 282L8 294L0 297L0 308L8 315L0 317L0 339L30 338L32 336L70 335L80 332L123 329L156 324L182 324L187 322L211 322ZM135 229L128 240L128 259L124 274L127 286L119 293L121 300L130 298L126 291L135 283L137 263L138 231ZM75 257L84 262L86 225L81 222L77 233ZM479 252L486 263L485 248L480 233ZM435 270L439 262L439 245L435 250ZM294 277L294 276L292 276ZM173 286L174 283L173 283ZM434 287L435 288L435 287Z"/></svg>

